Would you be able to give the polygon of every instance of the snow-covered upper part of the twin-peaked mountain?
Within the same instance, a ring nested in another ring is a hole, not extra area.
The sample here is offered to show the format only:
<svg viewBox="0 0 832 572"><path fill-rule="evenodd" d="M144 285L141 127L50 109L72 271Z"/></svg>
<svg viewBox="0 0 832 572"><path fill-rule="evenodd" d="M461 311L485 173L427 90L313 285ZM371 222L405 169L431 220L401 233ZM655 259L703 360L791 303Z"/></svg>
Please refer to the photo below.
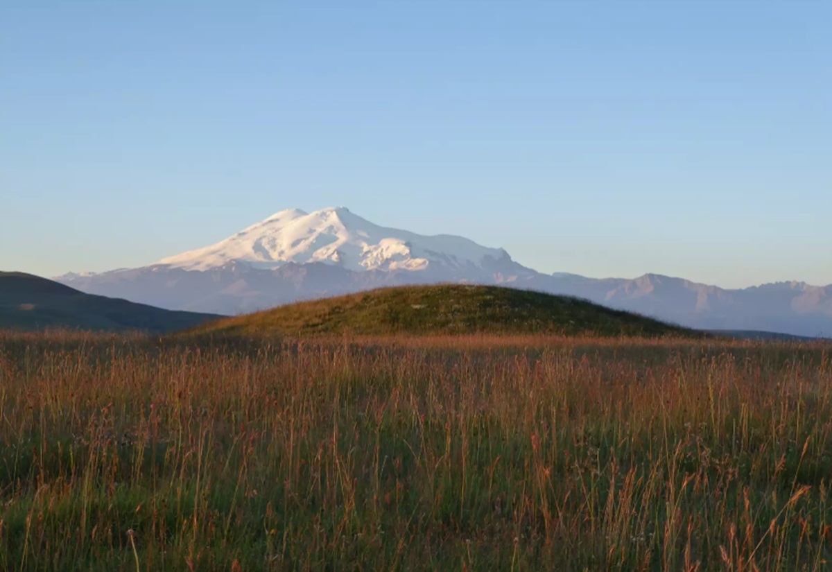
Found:
<svg viewBox="0 0 832 572"><path fill-rule="evenodd" d="M208 270L230 262L255 269L320 262L364 270L479 271L510 261L503 249L489 249L460 236L423 236L378 226L344 207L281 210L240 233L204 249L162 259L158 264Z"/></svg>

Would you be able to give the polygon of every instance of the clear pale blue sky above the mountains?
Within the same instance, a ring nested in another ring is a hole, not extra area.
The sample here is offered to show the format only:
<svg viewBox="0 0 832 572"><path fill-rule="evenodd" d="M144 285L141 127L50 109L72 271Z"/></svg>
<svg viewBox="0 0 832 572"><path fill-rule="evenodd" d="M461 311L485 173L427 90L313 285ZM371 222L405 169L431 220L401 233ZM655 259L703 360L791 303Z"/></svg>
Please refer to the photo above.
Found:
<svg viewBox="0 0 832 572"><path fill-rule="evenodd" d="M536 269L832 283L829 0L10 0L0 269L345 205Z"/></svg>

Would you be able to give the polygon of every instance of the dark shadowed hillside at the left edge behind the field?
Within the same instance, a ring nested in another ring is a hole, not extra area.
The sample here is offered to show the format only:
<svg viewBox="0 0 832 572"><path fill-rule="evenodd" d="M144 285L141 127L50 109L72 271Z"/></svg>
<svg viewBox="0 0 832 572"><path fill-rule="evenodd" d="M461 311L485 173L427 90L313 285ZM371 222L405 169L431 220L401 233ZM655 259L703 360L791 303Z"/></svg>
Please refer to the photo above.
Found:
<svg viewBox="0 0 832 572"><path fill-rule="evenodd" d="M219 316L94 296L32 274L0 272L0 328L163 333L193 328L215 318Z"/></svg>

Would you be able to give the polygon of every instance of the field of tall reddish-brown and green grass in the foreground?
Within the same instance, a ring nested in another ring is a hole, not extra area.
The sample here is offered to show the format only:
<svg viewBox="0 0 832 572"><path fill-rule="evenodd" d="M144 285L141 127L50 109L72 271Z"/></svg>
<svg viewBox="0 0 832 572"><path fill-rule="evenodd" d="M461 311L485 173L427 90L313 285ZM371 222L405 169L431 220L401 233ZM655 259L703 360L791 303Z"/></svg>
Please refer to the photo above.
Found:
<svg viewBox="0 0 832 572"><path fill-rule="evenodd" d="M830 570L830 349L0 333L0 570Z"/></svg>

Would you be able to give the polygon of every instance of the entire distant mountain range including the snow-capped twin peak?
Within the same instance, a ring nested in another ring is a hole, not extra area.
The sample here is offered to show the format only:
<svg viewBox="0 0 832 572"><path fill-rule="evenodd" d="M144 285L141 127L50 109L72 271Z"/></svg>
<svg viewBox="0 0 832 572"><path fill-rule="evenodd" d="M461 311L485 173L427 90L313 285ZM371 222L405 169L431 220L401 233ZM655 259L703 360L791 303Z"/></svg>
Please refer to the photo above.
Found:
<svg viewBox="0 0 832 572"><path fill-rule="evenodd" d="M217 244L157 264L57 280L87 293L223 314L382 286L502 284L587 298L691 328L832 337L832 284L726 289L660 274L542 274L503 249L459 236L385 228L343 207L310 214L283 210Z"/></svg>

